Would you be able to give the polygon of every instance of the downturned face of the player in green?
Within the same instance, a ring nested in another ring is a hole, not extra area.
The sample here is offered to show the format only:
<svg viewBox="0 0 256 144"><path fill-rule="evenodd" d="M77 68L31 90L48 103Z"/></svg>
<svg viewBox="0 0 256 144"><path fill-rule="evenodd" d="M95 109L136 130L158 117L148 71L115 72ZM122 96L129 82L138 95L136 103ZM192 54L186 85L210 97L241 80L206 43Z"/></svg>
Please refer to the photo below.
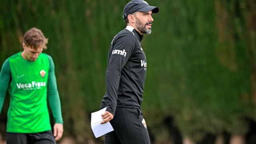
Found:
<svg viewBox="0 0 256 144"><path fill-rule="evenodd" d="M38 58L38 56L42 53L43 51L43 46L39 46L38 48L34 49L31 46L26 46L25 43L22 44L24 50L21 53L22 57L25 60L29 60L29 61L36 61L36 59Z"/></svg>

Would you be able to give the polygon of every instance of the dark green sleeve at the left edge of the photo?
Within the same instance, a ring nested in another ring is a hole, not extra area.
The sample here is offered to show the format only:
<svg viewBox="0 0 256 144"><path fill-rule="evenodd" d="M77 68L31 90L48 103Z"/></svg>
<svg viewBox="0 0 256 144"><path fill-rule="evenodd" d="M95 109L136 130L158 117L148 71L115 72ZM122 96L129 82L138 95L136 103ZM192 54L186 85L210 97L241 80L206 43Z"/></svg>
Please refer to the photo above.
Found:
<svg viewBox="0 0 256 144"><path fill-rule="evenodd" d="M11 70L9 59L5 60L0 72L0 113L4 104L6 90L11 80Z"/></svg>

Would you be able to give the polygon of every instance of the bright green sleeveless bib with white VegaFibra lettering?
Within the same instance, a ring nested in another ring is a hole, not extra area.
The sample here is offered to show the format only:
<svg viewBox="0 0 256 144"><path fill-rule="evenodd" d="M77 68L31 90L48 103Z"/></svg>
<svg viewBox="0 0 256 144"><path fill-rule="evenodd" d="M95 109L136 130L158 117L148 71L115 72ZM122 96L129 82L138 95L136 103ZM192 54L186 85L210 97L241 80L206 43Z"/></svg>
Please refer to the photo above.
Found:
<svg viewBox="0 0 256 144"><path fill-rule="evenodd" d="M40 54L34 62L21 52L9 58L11 70L10 107L7 132L36 133L51 130L47 107L49 59Z"/></svg>

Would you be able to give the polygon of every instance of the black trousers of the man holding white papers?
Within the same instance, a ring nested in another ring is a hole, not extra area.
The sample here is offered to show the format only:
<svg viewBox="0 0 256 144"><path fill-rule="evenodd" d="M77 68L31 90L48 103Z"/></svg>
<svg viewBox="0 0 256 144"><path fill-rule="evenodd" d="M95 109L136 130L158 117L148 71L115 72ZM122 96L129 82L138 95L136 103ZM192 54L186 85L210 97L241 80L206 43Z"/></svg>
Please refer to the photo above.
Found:
<svg viewBox="0 0 256 144"><path fill-rule="evenodd" d="M110 124L114 131L105 135L105 144L150 144L141 110L116 107Z"/></svg>

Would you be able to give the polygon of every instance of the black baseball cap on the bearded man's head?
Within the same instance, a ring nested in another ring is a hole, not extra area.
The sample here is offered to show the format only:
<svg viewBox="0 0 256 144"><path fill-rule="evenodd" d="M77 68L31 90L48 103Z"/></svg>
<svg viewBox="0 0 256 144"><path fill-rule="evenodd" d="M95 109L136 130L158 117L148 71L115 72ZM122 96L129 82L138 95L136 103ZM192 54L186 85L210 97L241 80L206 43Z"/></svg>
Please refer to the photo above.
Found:
<svg viewBox="0 0 256 144"><path fill-rule="evenodd" d="M159 8L156 6L150 6L144 0L131 0L124 6L123 18L126 19L129 14L133 14L136 11L158 13Z"/></svg>

